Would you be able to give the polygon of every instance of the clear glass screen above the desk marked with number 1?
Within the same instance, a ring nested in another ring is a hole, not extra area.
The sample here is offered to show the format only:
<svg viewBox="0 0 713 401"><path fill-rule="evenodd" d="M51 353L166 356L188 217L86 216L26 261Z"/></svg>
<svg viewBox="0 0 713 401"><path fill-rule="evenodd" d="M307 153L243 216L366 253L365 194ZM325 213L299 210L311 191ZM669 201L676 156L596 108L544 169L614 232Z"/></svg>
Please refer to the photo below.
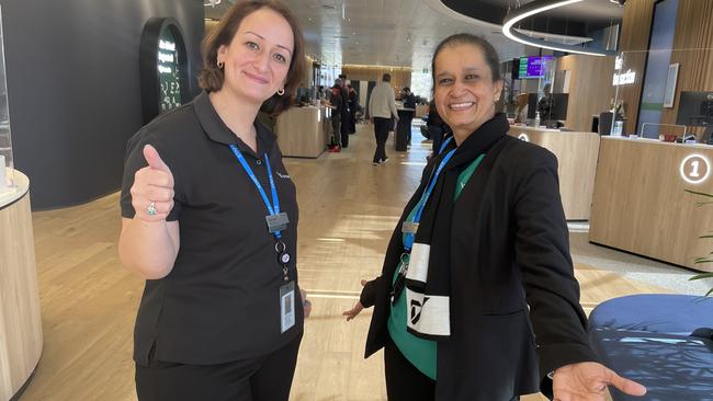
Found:
<svg viewBox="0 0 713 401"><path fill-rule="evenodd" d="M616 57L600 133L713 145L713 48L664 47Z"/></svg>

